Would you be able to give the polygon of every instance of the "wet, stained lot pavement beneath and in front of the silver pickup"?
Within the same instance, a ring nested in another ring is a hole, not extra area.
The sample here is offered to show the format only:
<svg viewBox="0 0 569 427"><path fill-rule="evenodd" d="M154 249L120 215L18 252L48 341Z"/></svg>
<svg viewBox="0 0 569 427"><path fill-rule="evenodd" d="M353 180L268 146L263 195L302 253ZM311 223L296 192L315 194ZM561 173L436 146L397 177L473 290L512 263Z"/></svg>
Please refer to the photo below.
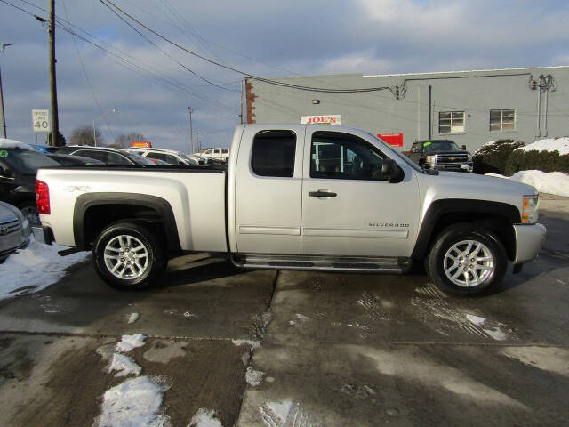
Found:
<svg viewBox="0 0 569 427"><path fill-rule="evenodd" d="M130 354L167 384L172 426L201 407L225 427L567 425L569 199L541 208L540 257L482 298L421 274L241 271L208 254L121 293L77 265L0 302L0 425L91 426L122 381L101 349L136 333L148 340Z"/></svg>

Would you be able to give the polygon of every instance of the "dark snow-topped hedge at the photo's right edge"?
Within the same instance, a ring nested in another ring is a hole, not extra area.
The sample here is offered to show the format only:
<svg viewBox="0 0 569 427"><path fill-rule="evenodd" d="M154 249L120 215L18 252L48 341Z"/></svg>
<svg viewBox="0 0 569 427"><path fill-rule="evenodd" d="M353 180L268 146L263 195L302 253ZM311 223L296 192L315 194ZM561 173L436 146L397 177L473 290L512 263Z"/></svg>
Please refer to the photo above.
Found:
<svg viewBox="0 0 569 427"><path fill-rule="evenodd" d="M569 154L559 155L559 151L515 150L508 158L506 174L537 169L543 172L569 173Z"/></svg>

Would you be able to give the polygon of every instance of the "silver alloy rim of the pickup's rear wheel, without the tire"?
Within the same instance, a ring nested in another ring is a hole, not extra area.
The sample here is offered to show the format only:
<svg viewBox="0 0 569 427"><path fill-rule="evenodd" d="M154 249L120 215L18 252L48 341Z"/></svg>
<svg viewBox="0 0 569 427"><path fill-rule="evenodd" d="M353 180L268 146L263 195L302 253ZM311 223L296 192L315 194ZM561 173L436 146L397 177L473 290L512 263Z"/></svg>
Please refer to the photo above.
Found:
<svg viewBox="0 0 569 427"><path fill-rule="evenodd" d="M116 278L140 278L148 269L148 250L138 238L119 235L105 246L105 265Z"/></svg>

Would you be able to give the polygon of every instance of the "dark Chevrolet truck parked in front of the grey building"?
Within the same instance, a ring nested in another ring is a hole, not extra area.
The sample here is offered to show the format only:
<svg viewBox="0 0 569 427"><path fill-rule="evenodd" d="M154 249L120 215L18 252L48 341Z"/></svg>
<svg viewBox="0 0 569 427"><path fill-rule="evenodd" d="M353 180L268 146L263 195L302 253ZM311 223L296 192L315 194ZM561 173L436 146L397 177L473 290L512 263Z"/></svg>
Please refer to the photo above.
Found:
<svg viewBox="0 0 569 427"><path fill-rule="evenodd" d="M405 153L414 163L424 169L472 173L472 156L451 140L415 141Z"/></svg>

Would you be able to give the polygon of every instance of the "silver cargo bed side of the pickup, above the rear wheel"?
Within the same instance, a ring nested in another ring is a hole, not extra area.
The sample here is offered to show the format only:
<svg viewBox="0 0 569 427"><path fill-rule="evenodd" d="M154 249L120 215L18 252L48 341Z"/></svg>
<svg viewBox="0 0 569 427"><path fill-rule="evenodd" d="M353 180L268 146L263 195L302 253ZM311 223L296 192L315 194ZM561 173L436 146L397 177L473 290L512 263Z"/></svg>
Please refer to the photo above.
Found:
<svg viewBox="0 0 569 427"><path fill-rule="evenodd" d="M60 245L77 246L74 217L90 197L106 197L109 205L123 197L125 203L126 197L159 197L172 208L181 250L228 250L225 167L90 165L44 168L37 176L49 182L51 197L52 213L41 220Z"/></svg>

